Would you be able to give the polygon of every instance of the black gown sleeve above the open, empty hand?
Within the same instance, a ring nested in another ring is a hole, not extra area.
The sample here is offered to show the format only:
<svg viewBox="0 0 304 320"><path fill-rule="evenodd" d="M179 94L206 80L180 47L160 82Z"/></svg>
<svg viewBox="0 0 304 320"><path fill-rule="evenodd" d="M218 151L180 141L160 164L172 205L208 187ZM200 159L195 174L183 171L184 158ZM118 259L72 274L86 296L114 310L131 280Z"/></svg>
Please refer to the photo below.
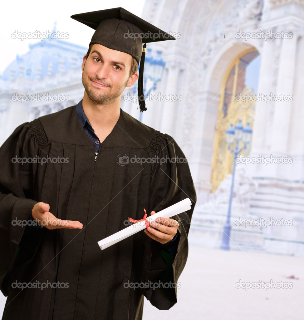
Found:
<svg viewBox="0 0 304 320"><path fill-rule="evenodd" d="M39 155L42 141L39 141L35 126L31 126L32 123L21 124L0 148L0 285L5 296L10 290L12 270L15 272L19 267L21 272L29 262L28 251L33 253L38 246L37 241L36 248L28 249L25 244L25 250L23 247L20 250L22 237L28 231L22 222L28 220L37 203L32 199L37 164L30 164L32 160L26 159ZM23 164L20 158L26 158ZM20 220L21 225L17 223ZM16 260L17 256L19 259Z"/></svg>

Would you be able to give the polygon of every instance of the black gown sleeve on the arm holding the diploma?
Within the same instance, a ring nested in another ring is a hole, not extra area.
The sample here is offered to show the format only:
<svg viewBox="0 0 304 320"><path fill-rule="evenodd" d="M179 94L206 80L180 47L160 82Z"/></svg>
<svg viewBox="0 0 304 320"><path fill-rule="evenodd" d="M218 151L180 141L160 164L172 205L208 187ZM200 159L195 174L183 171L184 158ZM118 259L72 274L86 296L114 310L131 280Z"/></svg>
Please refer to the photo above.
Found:
<svg viewBox="0 0 304 320"><path fill-rule="evenodd" d="M188 257L187 237L196 203L196 192L188 160L172 137L156 132L148 149L150 157L159 156L159 162L163 162L153 164L152 168L151 211L158 212L187 197L191 200L191 210L172 218L179 223L174 255L163 250L160 243L144 234L141 281L153 282L153 288L143 289L142 293L153 306L168 310L177 302L178 278Z"/></svg>

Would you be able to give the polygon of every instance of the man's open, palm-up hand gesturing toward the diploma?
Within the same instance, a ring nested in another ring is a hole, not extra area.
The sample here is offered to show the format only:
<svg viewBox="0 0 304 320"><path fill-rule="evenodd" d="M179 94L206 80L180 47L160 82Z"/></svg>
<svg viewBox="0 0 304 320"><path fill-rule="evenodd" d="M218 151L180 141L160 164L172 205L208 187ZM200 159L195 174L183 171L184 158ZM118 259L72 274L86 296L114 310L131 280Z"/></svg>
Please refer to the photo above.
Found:
<svg viewBox="0 0 304 320"><path fill-rule="evenodd" d="M38 202L32 209L32 218L47 229L82 229L79 221L57 219L47 203Z"/></svg>

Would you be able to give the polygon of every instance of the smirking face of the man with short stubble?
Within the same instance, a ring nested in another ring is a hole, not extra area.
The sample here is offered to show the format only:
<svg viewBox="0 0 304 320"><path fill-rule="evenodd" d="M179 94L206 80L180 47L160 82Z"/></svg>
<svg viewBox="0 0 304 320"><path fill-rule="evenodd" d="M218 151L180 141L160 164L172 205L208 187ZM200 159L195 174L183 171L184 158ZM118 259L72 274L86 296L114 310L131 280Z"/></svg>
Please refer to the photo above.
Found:
<svg viewBox="0 0 304 320"><path fill-rule="evenodd" d="M94 44L89 57L83 57L82 84L95 103L111 105L121 98L125 87L132 86L138 78L130 75L132 57L125 52Z"/></svg>

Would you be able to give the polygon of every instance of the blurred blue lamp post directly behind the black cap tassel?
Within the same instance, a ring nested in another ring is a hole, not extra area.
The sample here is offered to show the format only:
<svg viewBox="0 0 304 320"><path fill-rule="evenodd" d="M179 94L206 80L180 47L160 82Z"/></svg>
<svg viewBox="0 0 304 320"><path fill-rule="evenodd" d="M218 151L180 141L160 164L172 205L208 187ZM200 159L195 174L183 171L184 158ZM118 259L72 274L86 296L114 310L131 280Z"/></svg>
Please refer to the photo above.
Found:
<svg viewBox="0 0 304 320"><path fill-rule="evenodd" d="M146 56L144 60L144 96L149 95L156 90L156 84L161 80L166 62L161 57L161 51L156 51L156 57L152 56L152 49L146 49ZM137 72L139 71L139 66ZM147 90L147 81L152 82L152 86ZM133 94L136 94L137 84L134 86ZM142 122L143 113L139 114L139 121Z"/></svg>

